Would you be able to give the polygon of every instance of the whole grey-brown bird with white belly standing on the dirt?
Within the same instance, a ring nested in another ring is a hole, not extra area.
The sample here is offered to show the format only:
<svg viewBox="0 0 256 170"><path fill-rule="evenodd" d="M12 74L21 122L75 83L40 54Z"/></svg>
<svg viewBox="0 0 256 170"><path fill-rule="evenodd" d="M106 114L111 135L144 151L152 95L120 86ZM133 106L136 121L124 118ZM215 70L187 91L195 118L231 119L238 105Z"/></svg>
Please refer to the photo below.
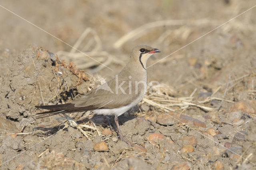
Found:
<svg viewBox="0 0 256 170"><path fill-rule="evenodd" d="M111 80L84 96L66 104L35 106L49 111L36 113L37 118L72 112L93 111L94 114L114 115L120 140L128 142L121 133L118 116L136 106L146 94L146 63L157 48L139 45L132 49L126 66Z"/></svg>

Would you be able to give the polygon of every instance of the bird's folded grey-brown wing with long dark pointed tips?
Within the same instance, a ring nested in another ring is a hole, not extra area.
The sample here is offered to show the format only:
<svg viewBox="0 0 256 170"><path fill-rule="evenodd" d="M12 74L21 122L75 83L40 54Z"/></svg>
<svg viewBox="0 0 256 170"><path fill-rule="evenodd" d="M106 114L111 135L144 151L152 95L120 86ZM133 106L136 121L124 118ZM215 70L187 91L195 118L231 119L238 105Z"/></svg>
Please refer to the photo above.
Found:
<svg viewBox="0 0 256 170"><path fill-rule="evenodd" d="M116 94L116 79L112 80L98 86L92 91L88 92L85 96L78 98L67 104L49 105L49 106L36 106L36 108L48 109L50 111L41 112L41 116L70 112L84 112L87 110L96 110L99 108L118 108L121 106L126 106L130 104L134 99L140 94L135 94L135 86L132 87L132 93L129 92L131 88L128 84L128 77L120 76L122 78L118 79L118 83L122 84L123 91L118 88L118 93ZM134 83L133 83L134 84ZM124 94L125 93L125 94Z"/></svg>

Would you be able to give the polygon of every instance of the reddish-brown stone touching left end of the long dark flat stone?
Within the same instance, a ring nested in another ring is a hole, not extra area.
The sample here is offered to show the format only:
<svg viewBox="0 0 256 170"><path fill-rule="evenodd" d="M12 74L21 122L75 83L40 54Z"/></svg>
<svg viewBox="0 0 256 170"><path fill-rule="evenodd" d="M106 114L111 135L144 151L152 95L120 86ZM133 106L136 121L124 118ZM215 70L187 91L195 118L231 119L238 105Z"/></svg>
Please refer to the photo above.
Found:
<svg viewBox="0 0 256 170"><path fill-rule="evenodd" d="M162 125L174 125L180 121L180 116L169 112L168 114L159 114L156 118L156 122Z"/></svg>

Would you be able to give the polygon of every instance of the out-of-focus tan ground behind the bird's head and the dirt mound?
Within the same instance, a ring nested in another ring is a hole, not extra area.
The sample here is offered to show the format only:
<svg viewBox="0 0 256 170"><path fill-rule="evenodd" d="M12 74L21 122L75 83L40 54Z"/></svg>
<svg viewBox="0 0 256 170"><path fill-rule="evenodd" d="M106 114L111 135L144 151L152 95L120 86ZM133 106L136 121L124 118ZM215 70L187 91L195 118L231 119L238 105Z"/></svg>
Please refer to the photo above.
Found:
<svg viewBox="0 0 256 170"><path fill-rule="evenodd" d="M4 0L1 5L113 70L1 7L0 52L5 56L0 58L1 75L6 74L15 54L36 44L108 80L125 66L134 46L145 44L162 51L150 58L150 66L248 10L255 1ZM226 82L220 74L232 72L239 77L250 72L256 58L255 16L253 8L154 64L148 68L148 81L157 80L190 94L198 86L196 81L200 82L198 88L211 91L213 85Z"/></svg>

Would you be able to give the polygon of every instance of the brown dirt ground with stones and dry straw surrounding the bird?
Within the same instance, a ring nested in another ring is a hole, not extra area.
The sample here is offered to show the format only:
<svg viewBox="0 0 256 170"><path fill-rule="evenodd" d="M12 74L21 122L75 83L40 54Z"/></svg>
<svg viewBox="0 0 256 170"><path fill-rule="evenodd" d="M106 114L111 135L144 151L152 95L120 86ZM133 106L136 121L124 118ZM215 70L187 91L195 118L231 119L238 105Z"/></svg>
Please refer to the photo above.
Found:
<svg viewBox="0 0 256 170"><path fill-rule="evenodd" d="M238 16L253 0L0 5L112 69L0 7L0 169L256 169L256 8ZM133 146L111 116L35 119L114 77L138 44L162 52L147 65L160 85L119 119Z"/></svg>

